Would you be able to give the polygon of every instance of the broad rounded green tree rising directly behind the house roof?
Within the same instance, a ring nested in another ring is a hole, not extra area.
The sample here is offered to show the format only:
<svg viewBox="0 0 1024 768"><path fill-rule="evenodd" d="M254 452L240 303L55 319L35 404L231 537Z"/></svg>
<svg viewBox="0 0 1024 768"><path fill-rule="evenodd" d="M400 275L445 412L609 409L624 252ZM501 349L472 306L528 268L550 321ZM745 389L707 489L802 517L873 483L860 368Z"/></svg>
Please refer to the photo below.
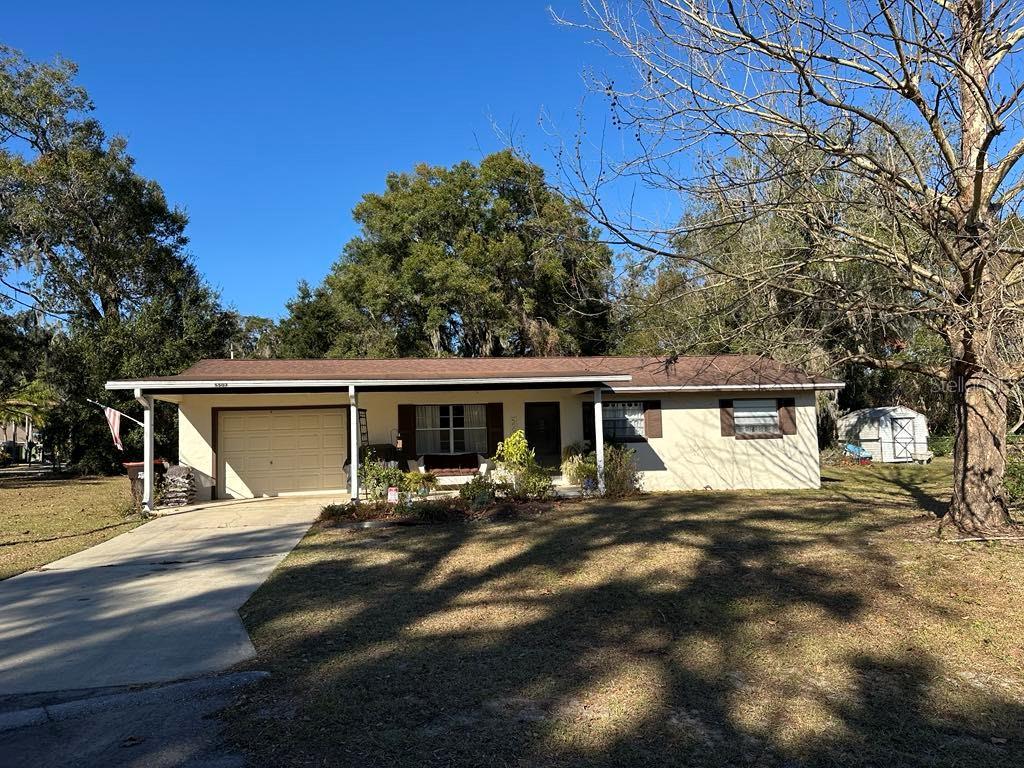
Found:
<svg viewBox="0 0 1024 768"><path fill-rule="evenodd" d="M544 171L511 152L392 173L360 233L300 287L281 352L308 356L598 353L611 251Z"/></svg>

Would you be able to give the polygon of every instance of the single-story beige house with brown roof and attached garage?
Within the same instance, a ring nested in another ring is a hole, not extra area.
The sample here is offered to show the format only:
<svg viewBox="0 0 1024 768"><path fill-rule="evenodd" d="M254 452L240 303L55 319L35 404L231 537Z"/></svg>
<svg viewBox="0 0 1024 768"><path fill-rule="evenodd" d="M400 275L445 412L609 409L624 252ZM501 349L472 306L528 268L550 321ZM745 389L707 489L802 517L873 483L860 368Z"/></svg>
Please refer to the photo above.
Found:
<svg viewBox="0 0 1024 768"><path fill-rule="evenodd" d="M628 442L648 490L817 487L815 393L843 383L713 355L207 359L106 387L144 408L145 466L153 402L175 403L180 463L225 499L357 492L367 445L458 466L517 429L552 467L573 443Z"/></svg>

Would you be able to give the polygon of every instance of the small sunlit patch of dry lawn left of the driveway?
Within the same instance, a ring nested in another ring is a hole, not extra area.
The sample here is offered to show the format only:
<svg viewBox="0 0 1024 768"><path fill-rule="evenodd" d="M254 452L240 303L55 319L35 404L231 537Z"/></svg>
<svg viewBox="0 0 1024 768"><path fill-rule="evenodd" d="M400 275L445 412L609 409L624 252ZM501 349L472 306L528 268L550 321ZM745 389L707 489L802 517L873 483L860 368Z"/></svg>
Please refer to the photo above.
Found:
<svg viewBox="0 0 1024 768"><path fill-rule="evenodd" d="M124 477L0 479L0 579L138 525Z"/></svg>

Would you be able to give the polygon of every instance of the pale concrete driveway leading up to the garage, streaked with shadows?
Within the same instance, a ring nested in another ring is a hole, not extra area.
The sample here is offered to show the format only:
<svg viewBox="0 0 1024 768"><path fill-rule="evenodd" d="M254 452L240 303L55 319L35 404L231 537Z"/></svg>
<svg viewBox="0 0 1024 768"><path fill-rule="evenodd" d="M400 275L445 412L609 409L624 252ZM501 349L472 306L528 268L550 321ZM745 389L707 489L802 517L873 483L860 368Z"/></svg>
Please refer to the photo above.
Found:
<svg viewBox="0 0 1024 768"><path fill-rule="evenodd" d="M253 657L238 609L327 501L171 514L0 582L0 695L166 682Z"/></svg>

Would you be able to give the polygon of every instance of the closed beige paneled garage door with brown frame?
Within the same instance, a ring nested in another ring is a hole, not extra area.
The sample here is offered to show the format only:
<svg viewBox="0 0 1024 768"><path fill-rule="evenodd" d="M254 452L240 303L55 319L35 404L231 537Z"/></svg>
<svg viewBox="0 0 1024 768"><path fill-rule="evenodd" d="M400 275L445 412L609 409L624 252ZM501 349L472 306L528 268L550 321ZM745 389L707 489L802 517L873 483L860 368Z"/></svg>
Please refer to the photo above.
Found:
<svg viewBox="0 0 1024 768"><path fill-rule="evenodd" d="M345 487L343 409L222 411L218 431L223 498Z"/></svg>

